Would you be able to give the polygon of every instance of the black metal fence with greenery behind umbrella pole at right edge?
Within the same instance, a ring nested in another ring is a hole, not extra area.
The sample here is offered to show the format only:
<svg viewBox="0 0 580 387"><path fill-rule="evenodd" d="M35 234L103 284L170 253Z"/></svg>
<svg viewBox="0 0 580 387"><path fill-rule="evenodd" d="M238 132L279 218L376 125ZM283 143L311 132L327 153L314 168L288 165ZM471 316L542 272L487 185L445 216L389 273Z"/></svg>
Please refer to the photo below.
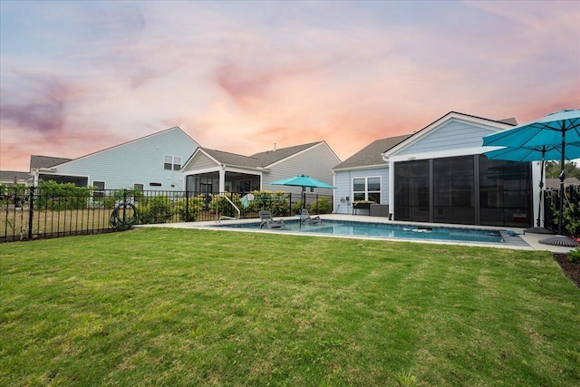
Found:
<svg viewBox="0 0 580 387"><path fill-rule="evenodd" d="M580 185L567 186L564 189L564 211L562 217L563 234L580 238ZM560 215L560 190L547 189L544 192L544 227L557 232Z"/></svg>

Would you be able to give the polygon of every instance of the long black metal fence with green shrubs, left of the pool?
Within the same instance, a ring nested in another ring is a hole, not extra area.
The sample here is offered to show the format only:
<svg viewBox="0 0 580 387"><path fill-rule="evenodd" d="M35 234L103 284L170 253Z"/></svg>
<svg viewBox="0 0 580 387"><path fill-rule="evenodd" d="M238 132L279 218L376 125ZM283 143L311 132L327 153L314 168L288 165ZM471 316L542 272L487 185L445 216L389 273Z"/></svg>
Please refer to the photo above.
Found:
<svg viewBox="0 0 580 387"><path fill-rule="evenodd" d="M122 231L138 224L258 218L262 209L285 217L304 207L284 192L103 190L53 181L4 186L0 193L0 242ZM333 197L307 194L305 207L313 214L330 213Z"/></svg>

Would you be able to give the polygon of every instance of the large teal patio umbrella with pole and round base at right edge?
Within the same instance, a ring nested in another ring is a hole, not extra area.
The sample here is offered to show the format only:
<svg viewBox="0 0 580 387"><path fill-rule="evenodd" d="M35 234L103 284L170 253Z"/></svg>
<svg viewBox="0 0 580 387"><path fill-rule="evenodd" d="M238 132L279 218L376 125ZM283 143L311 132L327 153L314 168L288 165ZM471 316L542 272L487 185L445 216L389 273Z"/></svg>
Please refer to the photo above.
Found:
<svg viewBox="0 0 580 387"><path fill-rule="evenodd" d="M506 147L494 150L491 157L500 160L511 159L514 154L528 152L522 161L549 160L559 153L560 167L560 210L558 235L539 242L545 245L575 247L577 243L565 237L562 231L564 212L564 165L565 160L580 158L580 110L556 111L536 121L518 125L506 131L498 131L483 138L484 146ZM503 152L503 156L502 156ZM486 153L486 155L488 155ZM549 155L549 156L548 156ZM549 158L549 159L546 159ZM553 159L552 159L553 160Z"/></svg>

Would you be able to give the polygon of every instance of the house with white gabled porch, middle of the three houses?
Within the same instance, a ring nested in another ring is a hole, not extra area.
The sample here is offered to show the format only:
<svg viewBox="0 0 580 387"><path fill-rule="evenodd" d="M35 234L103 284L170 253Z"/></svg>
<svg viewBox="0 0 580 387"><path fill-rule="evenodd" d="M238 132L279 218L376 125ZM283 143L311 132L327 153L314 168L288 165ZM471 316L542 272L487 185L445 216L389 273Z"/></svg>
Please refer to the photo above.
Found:
<svg viewBox="0 0 580 387"><path fill-rule="evenodd" d="M284 190L300 198L299 187L268 183L304 174L332 184L332 168L337 162L340 159L325 141L267 150L251 156L198 148L183 167L183 173L189 191L246 193L256 189ZM315 192L333 195L333 189L315 189Z"/></svg>

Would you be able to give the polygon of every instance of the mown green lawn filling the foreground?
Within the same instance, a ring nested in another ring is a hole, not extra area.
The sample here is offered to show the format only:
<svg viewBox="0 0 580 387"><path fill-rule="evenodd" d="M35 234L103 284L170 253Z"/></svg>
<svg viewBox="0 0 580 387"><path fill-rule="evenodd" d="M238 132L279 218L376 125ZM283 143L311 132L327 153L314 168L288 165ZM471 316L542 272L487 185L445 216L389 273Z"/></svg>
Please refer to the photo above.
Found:
<svg viewBox="0 0 580 387"><path fill-rule="evenodd" d="M549 253L165 228L0 249L0 385L580 385Z"/></svg>

